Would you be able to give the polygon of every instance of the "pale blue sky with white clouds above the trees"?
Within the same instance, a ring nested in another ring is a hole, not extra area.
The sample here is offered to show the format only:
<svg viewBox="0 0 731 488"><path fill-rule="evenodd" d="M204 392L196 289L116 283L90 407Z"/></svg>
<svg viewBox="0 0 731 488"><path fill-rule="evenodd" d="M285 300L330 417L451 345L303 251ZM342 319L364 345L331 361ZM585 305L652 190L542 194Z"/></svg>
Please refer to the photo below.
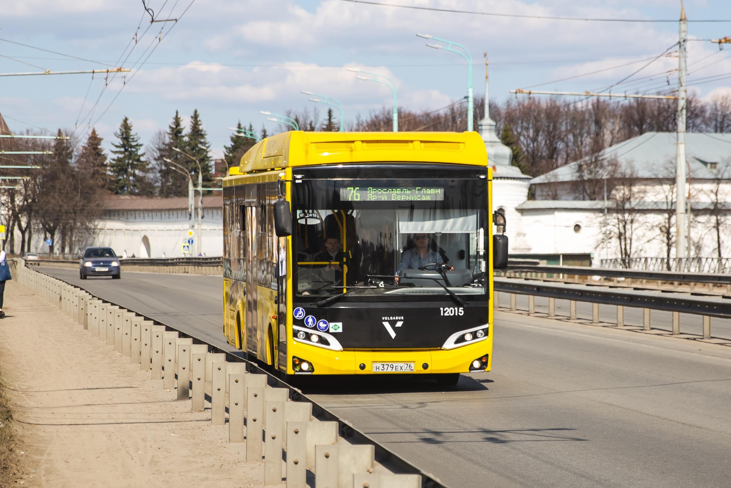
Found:
<svg viewBox="0 0 731 488"><path fill-rule="evenodd" d="M676 0L374 0L452 10L578 18L676 19ZM238 120L275 130L259 110L325 108L300 90L336 97L346 119L391 103L390 90L355 79L346 67L388 75L399 105L436 109L466 94L467 67L454 53L425 46L417 32L461 42L474 57L475 93L491 62L493 100L508 91L602 89L639 70L678 40L678 23L586 22L378 7L343 0L5 0L0 73L132 69L126 76L0 77L0 113L22 132L59 127L85 138L89 124L109 147L129 116L145 143L175 110L202 116L214 154ZM186 10L186 7L189 7ZM731 19L728 0L686 0L689 20ZM184 12L184 13L183 13ZM135 34L137 42L135 43ZM689 23L689 82L702 97L731 91L731 22ZM162 40L161 40L162 39ZM23 45L56 51L50 53ZM667 88L677 57L654 61L615 91ZM73 59L58 53L76 56ZM28 63L34 66L29 66ZM108 65L108 66L107 66ZM607 68L614 68L607 70ZM576 75L594 73L581 78ZM654 75L654 78L644 78ZM668 78L670 76L670 78ZM640 79L640 77L643 77ZM564 78L572 78L563 80ZM692 82L697 80L697 84ZM22 121L22 122L21 122Z"/></svg>

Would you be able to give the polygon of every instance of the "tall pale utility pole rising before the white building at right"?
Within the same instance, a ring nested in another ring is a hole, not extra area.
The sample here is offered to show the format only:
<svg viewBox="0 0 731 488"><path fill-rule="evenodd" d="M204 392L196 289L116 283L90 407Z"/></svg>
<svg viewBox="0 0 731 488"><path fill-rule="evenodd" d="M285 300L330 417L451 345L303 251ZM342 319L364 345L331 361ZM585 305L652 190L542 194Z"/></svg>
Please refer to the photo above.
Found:
<svg viewBox="0 0 731 488"><path fill-rule="evenodd" d="M686 242L690 240L690 222L686 221L686 116L688 113L688 98L686 96L686 42L688 37L688 21L685 7L681 6L680 39L678 40L678 153L675 168L675 258L688 258ZM676 270L681 271L682 268Z"/></svg>

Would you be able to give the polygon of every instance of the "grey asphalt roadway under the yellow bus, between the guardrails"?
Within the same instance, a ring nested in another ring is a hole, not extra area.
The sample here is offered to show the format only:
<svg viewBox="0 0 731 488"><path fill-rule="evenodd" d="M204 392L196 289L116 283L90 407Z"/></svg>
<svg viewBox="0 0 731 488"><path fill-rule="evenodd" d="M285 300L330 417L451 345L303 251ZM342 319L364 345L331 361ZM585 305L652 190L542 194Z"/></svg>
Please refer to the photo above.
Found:
<svg viewBox="0 0 731 488"><path fill-rule="evenodd" d="M43 271L224 342L220 277ZM303 389L450 487L730 485L731 348L507 312L494 334L493 371L447 391L408 377Z"/></svg>

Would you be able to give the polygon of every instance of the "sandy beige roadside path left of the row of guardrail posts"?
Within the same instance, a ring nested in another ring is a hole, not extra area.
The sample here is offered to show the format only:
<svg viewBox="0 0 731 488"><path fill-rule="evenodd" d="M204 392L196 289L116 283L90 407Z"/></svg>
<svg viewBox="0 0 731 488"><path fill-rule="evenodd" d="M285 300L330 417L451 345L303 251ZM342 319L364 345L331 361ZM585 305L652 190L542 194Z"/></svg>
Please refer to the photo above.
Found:
<svg viewBox="0 0 731 488"><path fill-rule="evenodd" d="M92 339L16 282L5 290L0 361L32 487L260 487L263 466L210 412ZM210 406L210 405L208 405Z"/></svg>

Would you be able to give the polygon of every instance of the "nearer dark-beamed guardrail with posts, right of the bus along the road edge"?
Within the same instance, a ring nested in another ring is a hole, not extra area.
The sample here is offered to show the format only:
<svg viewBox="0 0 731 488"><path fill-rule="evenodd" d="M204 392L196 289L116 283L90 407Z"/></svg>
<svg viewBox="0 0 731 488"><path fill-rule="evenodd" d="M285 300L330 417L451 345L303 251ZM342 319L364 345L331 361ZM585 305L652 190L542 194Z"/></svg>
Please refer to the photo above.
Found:
<svg viewBox="0 0 731 488"><path fill-rule="evenodd" d="M651 329L650 310L673 312L673 335L680 334L680 314L701 315L703 339L711 339L711 317L731 318L731 300L711 296L693 296L685 293L627 290L606 285L572 285L542 282L531 279L495 278L495 291L511 293L510 309L515 310L515 293L529 296L529 315L535 313L535 297L548 297L548 318L556 317L556 299L570 301L570 316L575 320L576 302L586 301L592 306L592 323L599 323L599 304L617 307L617 325L624 326L624 307L644 309L643 326ZM494 301L495 307L499 300Z"/></svg>

